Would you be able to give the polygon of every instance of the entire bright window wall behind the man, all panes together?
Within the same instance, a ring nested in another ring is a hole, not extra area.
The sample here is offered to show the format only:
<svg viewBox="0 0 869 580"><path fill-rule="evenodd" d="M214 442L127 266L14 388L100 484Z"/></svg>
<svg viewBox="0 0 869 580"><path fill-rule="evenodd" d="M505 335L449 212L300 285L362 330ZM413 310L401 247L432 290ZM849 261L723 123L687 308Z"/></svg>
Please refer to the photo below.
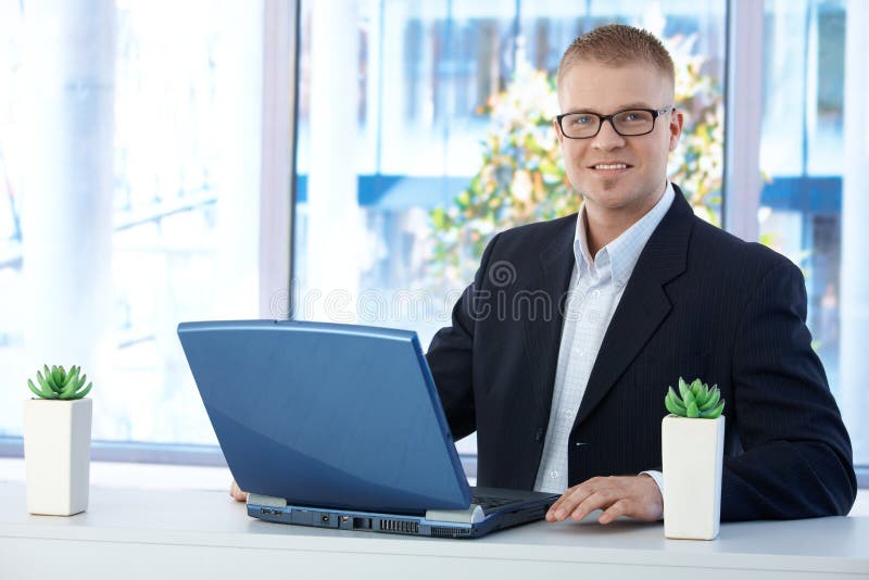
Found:
<svg viewBox="0 0 869 580"><path fill-rule="evenodd" d="M299 3L293 157L267 136L291 134L270 111L289 115L282 98L295 91L269 85L268 67L291 68L294 52L269 54L268 30L295 25L281 20L293 2L118 0L96 13L70 2L56 14L0 3L0 439L21 433L26 378L56 361L96 380L95 439L213 445L180 320L292 315L411 328L427 344L492 235L576 209L558 185L552 76L600 24L665 39L688 114L670 172L710 222L746 215L739 198L721 206L734 1ZM754 139L759 239L803 267L858 464L869 464L858 423L869 47L848 30L867 10L763 3ZM502 148L517 137L539 147ZM266 225L288 191L266 184L293 165L288 240Z"/></svg>

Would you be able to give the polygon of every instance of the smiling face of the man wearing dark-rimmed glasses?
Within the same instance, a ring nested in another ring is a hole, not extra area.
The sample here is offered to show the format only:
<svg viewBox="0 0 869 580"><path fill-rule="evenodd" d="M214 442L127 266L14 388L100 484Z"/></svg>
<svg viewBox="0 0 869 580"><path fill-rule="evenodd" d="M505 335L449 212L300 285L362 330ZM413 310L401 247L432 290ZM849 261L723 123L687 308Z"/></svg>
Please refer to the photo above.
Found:
<svg viewBox="0 0 869 580"><path fill-rule="evenodd" d="M609 115L625 109L666 109L672 101L671 81L645 63L613 67L579 61L558 85L562 113ZM589 139L566 138L557 123L555 130L567 177L584 197L589 218L635 222L664 192L667 155L682 134L682 113L665 113L655 119L652 133L634 137L618 135L608 121Z"/></svg>

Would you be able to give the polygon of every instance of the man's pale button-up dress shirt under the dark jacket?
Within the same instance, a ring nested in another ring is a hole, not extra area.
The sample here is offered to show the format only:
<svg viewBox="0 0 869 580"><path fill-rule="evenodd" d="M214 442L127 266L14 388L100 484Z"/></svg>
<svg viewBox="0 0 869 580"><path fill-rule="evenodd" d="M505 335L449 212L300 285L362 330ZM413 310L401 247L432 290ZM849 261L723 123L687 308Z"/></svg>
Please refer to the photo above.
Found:
<svg viewBox="0 0 869 580"><path fill-rule="evenodd" d="M574 237L576 264L570 276L550 424L534 482L537 491L564 493L567 490L567 444L597 351L640 253L670 209L673 197L668 181L658 203L618 238L601 248L594 257L589 253L584 205L577 215ZM659 471L643 472L652 476L662 488Z"/></svg>

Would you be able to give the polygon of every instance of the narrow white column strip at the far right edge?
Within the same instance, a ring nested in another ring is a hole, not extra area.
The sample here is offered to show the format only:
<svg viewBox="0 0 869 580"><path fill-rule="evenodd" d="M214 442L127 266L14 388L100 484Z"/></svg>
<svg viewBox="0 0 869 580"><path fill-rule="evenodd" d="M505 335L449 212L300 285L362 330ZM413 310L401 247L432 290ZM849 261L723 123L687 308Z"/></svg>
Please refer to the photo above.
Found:
<svg viewBox="0 0 869 580"><path fill-rule="evenodd" d="M848 0L845 34L845 171L842 175L842 270L840 319L840 405L854 444L857 463L869 458L869 4Z"/></svg>

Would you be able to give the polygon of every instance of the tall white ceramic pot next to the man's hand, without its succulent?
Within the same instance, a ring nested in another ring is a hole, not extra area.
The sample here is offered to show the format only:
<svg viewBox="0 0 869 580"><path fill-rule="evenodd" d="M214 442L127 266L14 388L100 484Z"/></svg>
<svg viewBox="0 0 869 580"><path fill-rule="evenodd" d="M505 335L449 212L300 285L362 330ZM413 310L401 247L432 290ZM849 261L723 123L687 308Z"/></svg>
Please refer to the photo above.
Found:
<svg viewBox="0 0 869 580"><path fill-rule="evenodd" d="M664 535L714 540L721 520L725 417L667 415L660 424Z"/></svg>

